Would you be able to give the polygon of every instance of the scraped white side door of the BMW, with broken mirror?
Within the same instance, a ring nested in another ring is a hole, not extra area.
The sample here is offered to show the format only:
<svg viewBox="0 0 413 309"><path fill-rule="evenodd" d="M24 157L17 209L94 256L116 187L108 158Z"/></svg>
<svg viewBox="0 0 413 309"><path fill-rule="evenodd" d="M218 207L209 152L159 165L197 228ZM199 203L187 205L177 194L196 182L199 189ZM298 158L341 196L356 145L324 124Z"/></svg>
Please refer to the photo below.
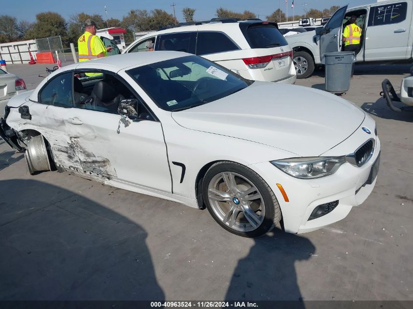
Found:
<svg viewBox="0 0 413 309"><path fill-rule="evenodd" d="M171 193L171 174L161 123L146 110L143 101L130 91L126 82L108 75L103 74L97 82L104 82L105 89L115 89L120 96L118 102L121 99L138 100L140 114L148 117L132 121L104 106L75 102L70 118L79 123L72 125L70 135L76 137L74 147L87 157L84 171L118 183ZM96 99L95 89L96 86L90 95Z"/></svg>

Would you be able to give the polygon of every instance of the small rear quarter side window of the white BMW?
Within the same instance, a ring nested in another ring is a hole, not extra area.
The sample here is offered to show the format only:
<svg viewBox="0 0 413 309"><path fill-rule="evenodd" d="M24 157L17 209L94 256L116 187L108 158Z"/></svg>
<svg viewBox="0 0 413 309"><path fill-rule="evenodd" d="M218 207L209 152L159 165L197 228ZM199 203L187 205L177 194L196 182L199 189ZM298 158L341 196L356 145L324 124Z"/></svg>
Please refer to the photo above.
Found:
<svg viewBox="0 0 413 309"><path fill-rule="evenodd" d="M42 89L39 102L42 104L72 107L72 76L73 73L61 74Z"/></svg>

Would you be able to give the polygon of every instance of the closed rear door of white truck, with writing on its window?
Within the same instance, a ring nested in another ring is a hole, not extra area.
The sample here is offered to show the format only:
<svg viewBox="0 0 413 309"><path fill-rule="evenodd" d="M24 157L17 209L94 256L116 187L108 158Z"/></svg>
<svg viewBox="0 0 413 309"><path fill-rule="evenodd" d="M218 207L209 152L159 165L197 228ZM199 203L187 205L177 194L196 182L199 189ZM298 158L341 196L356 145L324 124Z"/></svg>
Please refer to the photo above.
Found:
<svg viewBox="0 0 413 309"><path fill-rule="evenodd" d="M403 60L411 57L409 43L412 1L371 6L366 32L366 61Z"/></svg>

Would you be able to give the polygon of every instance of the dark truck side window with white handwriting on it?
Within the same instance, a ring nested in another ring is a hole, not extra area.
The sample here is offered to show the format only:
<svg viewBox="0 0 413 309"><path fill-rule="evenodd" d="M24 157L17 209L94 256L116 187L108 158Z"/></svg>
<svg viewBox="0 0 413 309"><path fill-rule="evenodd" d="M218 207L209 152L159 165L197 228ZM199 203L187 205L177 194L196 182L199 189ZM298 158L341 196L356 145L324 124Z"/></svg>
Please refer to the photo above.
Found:
<svg viewBox="0 0 413 309"><path fill-rule="evenodd" d="M380 26L406 20L407 2L391 3L370 8L369 26Z"/></svg>

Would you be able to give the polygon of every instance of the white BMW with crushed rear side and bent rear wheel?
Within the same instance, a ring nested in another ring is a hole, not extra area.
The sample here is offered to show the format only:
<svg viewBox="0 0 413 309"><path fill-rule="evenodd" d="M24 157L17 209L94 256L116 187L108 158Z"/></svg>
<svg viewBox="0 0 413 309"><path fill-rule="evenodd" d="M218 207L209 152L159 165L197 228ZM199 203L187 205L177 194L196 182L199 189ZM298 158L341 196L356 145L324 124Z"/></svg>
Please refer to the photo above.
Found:
<svg viewBox="0 0 413 309"><path fill-rule="evenodd" d="M345 218L370 195L380 158L375 122L352 103L181 52L66 66L11 99L0 127L32 174L57 168L205 205L247 237L280 220L302 233Z"/></svg>

